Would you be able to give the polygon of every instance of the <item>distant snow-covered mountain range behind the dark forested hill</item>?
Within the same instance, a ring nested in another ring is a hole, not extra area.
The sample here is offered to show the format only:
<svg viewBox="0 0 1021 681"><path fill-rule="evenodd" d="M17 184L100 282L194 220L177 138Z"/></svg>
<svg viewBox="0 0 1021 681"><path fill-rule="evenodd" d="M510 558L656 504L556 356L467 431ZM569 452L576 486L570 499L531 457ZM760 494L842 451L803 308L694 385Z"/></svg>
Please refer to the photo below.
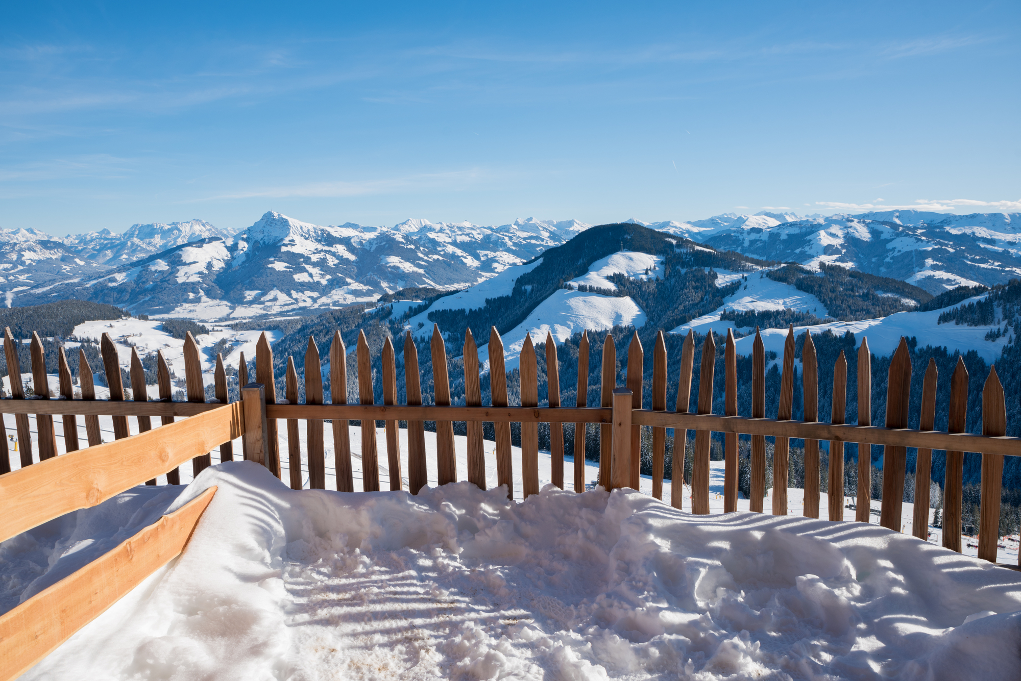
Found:
<svg viewBox="0 0 1021 681"><path fill-rule="evenodd" d="M1021 213L761 212L629 221L721 251L810 267L839 264L934 294L1021 276ZM499 226L422 219L323 226L270 211L236 234L199 219L66 238L0 230L0 286L8 305L80 298L161 316L300 313L403 287L471 286L589 226L534 218Z"/></svg>

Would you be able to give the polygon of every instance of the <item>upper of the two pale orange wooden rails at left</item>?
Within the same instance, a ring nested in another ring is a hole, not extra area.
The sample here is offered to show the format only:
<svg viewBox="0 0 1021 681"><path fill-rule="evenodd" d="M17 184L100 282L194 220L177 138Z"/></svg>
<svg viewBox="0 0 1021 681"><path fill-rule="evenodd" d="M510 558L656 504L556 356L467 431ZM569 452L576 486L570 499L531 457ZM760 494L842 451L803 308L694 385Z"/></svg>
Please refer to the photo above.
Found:
<svg viewBox="0 0 1021 681"><path fill-rule="evenodd" d="M0 475L0 541L87 509L162 475L178 464L239 437L244 418L238 404L105 442Z"/></svg>

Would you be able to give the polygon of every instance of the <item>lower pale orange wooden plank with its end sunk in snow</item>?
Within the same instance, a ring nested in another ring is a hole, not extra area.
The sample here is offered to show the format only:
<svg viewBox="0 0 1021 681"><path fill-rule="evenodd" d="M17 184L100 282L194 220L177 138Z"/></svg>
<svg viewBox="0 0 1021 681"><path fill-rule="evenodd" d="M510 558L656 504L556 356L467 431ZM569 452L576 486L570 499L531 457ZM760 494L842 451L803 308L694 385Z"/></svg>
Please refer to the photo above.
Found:
<svg viewBox="0 0 1021 681"><path fill-rule="evenodd" d="M3 669L15 679L180 555L216 488L0 616Z"/></svg>

